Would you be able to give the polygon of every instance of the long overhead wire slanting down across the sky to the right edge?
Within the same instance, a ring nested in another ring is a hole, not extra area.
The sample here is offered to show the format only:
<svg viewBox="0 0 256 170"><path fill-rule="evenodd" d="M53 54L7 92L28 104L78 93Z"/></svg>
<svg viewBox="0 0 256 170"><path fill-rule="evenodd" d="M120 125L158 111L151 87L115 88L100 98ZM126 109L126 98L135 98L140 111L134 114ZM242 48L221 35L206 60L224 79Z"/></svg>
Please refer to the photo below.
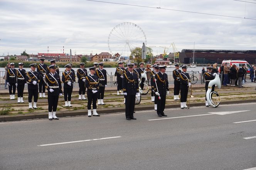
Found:
<svg viewBox="0 0 256 170"><path fill-rule="evenodd" d="M111 3L111 4L116 4L116 5L127 5L127 6L133 6L133 7L154 8L154 9L162 9L162 10L170 10L170 11L197 13L197 14L204 14L204 15L214 15L214 16L219 16L219 17L229 17L229 18L240 18L240 19L256 20L256 19L254 19L254 18L234 17L234 16L230 16L230 15L219 15L219 14L202 13L202 12L193 12L193 11L185 11L185 10L174 10L174 9L168 9L168 8L149 7L149 6L143 6L143 5L127 4L127 3L116 3L116 2L106 2L106 1L97 1L97 0L87 0L87 1L101 2L101 3Z"/></svg>

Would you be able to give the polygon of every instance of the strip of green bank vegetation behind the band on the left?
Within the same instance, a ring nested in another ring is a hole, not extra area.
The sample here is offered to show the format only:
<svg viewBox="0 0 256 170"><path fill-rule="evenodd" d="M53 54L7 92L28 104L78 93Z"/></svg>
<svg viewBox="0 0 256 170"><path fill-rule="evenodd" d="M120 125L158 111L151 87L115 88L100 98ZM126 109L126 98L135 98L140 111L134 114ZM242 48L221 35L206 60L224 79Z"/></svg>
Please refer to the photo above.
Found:
<svg viewBox="0 0 256 170"><path fill-rule="evenodd" d="M39 64L39 62L24 62L24 61L19 61L19 60L12 60L12 61L0 62L0 67L5 67L7 65L7 63L12 63L12 62L15 64L15 67L19 67L19 63L22 62L22 63L24 63L25 68L28 68L29 65L32 63ZM79 63L80 62L73 62L72 67L79 68L80 67ZM50 62L45 62L45 64L49 66ZM66 64L68 64L68 62L57 62L56 64L59 65L59 67L64 67ZM86 62L85 67L87 67L87 68L93 67L93 62ZM118 67L118 64L117 64L117 62L104 62L104 67Z"/></svg>

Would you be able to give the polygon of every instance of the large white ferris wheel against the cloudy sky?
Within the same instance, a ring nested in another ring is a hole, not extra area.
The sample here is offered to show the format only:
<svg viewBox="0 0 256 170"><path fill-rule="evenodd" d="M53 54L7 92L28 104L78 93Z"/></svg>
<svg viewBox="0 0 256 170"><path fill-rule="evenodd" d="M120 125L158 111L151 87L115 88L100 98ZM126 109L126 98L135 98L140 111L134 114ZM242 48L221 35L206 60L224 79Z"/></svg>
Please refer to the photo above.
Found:
<svg viewBox="0 0 256 170"><path fill-rule="evenodd" d="M120 57L130 57L131 50L147 45L144 31L131 22L123 22L116 25L108 35L108 48L112 55L120 54ZM118 60L120 60L120 57Z"/></svg>

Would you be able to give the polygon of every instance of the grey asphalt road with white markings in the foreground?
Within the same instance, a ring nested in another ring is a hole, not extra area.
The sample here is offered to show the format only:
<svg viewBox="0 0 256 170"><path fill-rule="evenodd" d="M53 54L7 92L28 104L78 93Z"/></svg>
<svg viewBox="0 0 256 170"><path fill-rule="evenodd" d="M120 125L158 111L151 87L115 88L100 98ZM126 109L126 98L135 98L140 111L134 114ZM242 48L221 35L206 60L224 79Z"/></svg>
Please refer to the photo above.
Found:
<svg viewBox="0 0 256 170"><path fill-rule="evenodd" d="M256 121L234 123L256 120L255 103L177 108L166 110L165 114L168 117L162 118L168 119L157 117L155 111L142 111L135 113L137 120L130 121L125 120L124 113L118 113L3 122L0 169L256 167Z"/></svg>

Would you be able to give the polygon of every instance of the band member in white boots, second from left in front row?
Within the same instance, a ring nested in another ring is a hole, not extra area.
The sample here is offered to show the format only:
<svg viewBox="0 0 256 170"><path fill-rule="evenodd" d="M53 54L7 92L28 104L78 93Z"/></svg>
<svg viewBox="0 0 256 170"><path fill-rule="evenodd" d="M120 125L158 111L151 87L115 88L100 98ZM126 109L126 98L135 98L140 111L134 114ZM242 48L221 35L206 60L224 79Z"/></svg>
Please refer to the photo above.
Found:
<svg viewBox="0 0 256 170"><path fill-rule="evenodd" d="M96 112L97 105L97 97L99 91L99 78L94 75L95 74L95 67L89 68L90 73L86 76L85 86L87 87L87 97L88 97L88 117L91 117L91 103L93 103L93 116L99 116Z"/></svg>

